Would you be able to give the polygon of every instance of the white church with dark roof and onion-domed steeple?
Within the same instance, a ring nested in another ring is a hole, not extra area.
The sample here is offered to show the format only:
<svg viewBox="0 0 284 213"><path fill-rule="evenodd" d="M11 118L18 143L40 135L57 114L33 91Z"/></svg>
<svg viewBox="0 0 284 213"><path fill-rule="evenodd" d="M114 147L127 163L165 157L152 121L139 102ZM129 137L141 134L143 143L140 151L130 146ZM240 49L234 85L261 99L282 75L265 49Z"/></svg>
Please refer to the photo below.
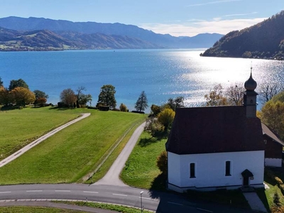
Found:
<svg viewBox="0 0 284 213"><path fill-rule="evenodd" d="M244 106L176 110L166 143L170 190L263 187L263 131L252 77L245 88Z"/></svg>

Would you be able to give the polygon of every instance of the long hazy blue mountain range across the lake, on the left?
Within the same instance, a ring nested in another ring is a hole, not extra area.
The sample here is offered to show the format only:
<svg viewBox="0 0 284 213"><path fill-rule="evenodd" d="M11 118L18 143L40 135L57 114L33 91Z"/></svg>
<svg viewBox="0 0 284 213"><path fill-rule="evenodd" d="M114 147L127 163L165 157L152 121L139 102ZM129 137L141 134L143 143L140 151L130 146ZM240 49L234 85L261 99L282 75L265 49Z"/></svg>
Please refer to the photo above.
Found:
<svg viewBox="0 0 284 213"><path fill-rule="evenodd" d="M193 37L159 34L122 23L72 22L49 18L0 18L0 49L208 48L218 33Z"/></svg>

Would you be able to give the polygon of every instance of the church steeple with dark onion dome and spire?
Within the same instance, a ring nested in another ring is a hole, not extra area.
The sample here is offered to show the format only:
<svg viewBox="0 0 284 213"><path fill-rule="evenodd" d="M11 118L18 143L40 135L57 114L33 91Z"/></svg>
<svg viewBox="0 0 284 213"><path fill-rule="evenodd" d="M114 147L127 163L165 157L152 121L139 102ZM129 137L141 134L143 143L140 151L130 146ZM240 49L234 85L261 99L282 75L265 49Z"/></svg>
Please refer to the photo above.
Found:
<svg viewBox="0 0 284 213"><path fill-rule="evenodd" d="M246 117L256 118L256 96L258 95L254 89L257 87L257 83L253 80L253 67L251 67L251 76L249 80L244 83L246 92L244 92L244 107L246 107Z"/></svg>

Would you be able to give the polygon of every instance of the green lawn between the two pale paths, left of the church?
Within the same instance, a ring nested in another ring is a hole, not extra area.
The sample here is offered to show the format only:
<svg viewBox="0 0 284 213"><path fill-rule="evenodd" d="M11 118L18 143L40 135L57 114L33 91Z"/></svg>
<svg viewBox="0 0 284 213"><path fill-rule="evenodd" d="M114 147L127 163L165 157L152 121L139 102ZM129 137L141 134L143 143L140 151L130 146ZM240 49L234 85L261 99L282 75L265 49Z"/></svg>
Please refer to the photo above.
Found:
<svg viewBox="0 0 284 213"><path fill-rule="evenodd" d="M55 109L50 111L58 113L54 116L62 113ZM82 111L91 112L92 115L56 133L0 168L0 184L78 182L97 167L102 156L126 130L145 117L141 114L91 109L68 109L63 113L79 114Z"/></svg>

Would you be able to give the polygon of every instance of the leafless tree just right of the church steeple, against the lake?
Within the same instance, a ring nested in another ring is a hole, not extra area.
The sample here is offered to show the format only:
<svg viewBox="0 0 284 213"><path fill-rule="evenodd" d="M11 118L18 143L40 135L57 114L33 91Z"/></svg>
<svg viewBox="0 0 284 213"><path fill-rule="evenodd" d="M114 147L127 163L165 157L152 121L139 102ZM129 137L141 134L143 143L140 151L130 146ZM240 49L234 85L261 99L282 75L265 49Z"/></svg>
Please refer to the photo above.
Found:
<svg viewBox="0 0 284 213"><path fill-rule="evenodd" d="M261 100L261 103L265 104L270 101L281 90L283 90L283 87L279 84L262 84L259 89L259 99Z"/></svg>

